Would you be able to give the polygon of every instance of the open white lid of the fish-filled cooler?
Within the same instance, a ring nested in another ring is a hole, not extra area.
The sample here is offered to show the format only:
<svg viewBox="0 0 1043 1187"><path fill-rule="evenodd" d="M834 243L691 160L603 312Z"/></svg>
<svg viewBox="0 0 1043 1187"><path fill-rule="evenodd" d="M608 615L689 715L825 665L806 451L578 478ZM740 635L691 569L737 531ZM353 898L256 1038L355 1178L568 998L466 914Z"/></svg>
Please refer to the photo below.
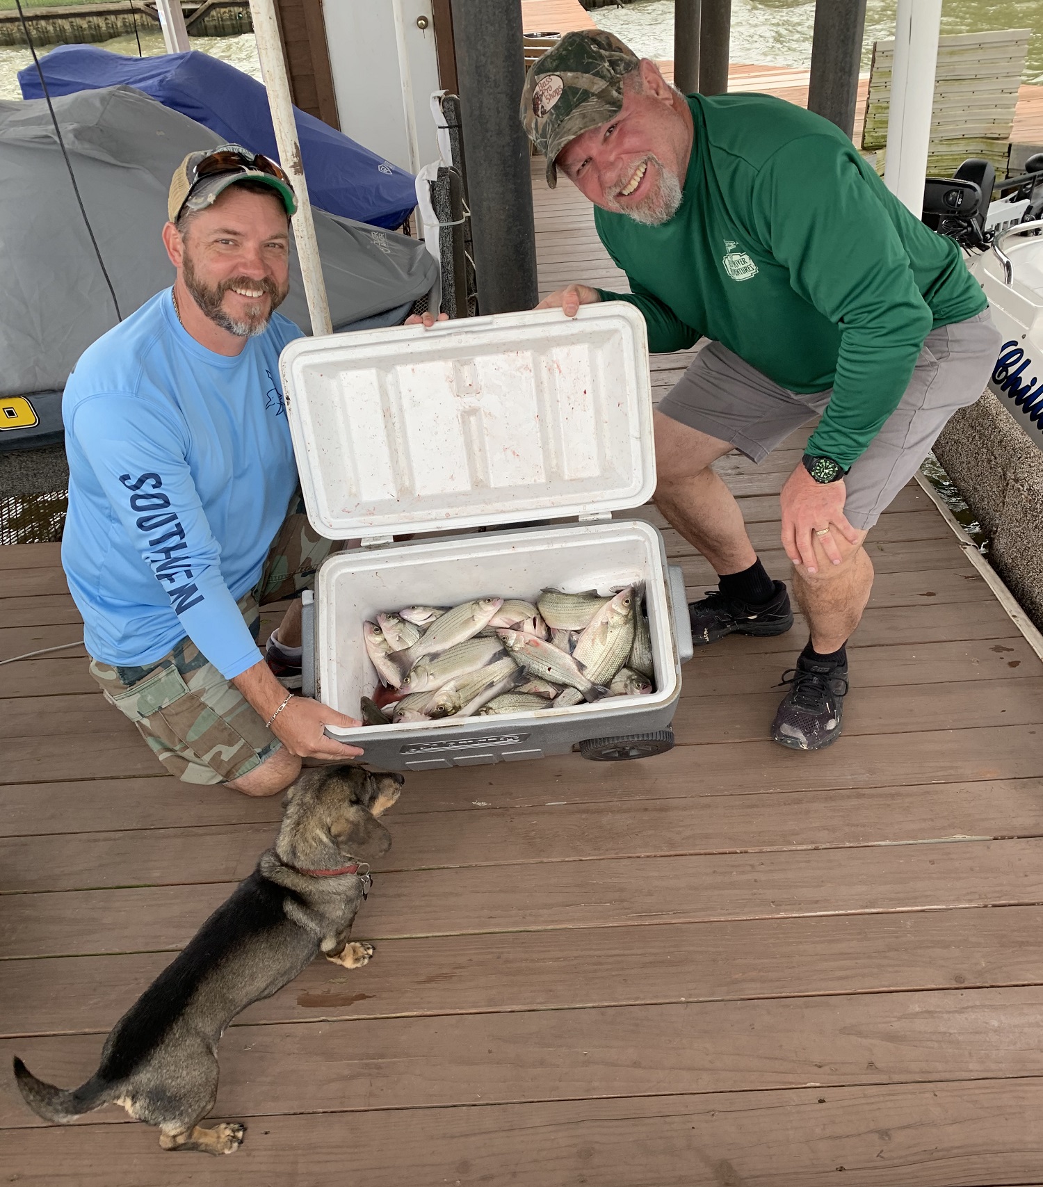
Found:
<svg viewBox="0 0 1043 1187"><path fill-rule="evenodd" d="M593 515L655 489L648 338L627 301L298 338L279 369L327 539Z"/></svg>

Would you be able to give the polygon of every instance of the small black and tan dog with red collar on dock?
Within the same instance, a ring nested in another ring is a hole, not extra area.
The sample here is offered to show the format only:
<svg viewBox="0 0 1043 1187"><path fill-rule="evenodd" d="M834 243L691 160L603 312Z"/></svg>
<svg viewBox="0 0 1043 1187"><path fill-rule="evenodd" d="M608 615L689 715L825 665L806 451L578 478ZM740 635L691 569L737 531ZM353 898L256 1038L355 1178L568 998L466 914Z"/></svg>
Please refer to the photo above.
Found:
<svg viewBox="0 0 1043 1187"><path fill-rule="evenodd" d="M30 1109L66 1124L119 1104L159 1128L164 1150L236 1150L246 1126L199 1125L217 1098L218 1040L237 1014L278 992L319 952L344 969L369 961L374 946L352 941L351 925L368 891L368 862L392 845L376 818L403 781L351 766L305 770L286 793L275 848L120 1018L85 1084L57 1088L15 1056Z"/></svg>

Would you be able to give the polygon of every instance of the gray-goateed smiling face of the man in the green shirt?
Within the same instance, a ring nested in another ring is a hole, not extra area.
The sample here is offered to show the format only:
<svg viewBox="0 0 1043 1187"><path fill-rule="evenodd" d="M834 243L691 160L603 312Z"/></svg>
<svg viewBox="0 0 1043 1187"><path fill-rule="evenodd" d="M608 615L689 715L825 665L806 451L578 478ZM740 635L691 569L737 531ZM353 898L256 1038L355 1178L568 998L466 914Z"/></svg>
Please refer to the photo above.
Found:
<svg viewBox="0 0 1043 1187"><path fill-rule="evenodd" d="M656 226L681 204L691 152L688 107L645 59L624 80L619 114L571 140L557 165L594 205Z"/></svg>

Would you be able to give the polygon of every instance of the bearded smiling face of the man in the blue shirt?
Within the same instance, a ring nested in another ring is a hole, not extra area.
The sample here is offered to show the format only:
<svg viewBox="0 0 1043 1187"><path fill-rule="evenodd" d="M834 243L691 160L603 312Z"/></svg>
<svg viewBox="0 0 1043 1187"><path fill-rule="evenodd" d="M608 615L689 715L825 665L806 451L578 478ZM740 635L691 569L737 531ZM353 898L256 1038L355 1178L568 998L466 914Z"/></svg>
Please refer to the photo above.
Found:
<svg viewBox="0 0 1043 1187"><path fill-rule="evenodd" d="M263 334L290 291L290 220L272 190L230 185L191 215L182 277L199 309L236 337Z"/></svg>

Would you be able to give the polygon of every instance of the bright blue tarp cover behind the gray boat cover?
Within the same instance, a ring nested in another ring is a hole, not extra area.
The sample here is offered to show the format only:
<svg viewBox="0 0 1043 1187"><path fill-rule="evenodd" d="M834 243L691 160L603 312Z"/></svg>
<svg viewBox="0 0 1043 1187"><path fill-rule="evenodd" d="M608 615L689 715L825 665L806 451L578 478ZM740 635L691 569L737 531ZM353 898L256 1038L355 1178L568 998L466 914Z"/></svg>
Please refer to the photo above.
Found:
<svg viewBox="0 0 1043 1187"><path fill-rule="evenodd" d="M95 45L59 45L40 59L52 96L96 87L135 87L205 125L223 140L278 159L268 96L255 78L208 53L131 58ZM18 74L24 99L43 99L36 66ZM307 190L314 205L376 227L400 227L416 205L413 176L294 108Z"/></svg>

